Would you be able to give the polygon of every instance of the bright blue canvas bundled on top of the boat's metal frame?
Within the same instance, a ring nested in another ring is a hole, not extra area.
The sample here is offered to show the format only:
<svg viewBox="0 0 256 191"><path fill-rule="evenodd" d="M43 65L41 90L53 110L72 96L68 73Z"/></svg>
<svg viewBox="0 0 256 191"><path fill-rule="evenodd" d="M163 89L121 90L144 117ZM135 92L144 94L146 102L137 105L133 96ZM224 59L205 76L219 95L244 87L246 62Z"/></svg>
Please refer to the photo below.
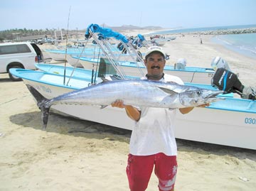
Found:
<svg viewBox="0 0 256 191"><path fill-rule="evenodd" d="M128 43L129 40L123 36L121 33L112 31L110 28L102 28L97 24L90 24L85 31L85 38L90 38L90 30L92 33L100 33L104 38L113 37L117 40L122 40L123 43Z"/></svg>

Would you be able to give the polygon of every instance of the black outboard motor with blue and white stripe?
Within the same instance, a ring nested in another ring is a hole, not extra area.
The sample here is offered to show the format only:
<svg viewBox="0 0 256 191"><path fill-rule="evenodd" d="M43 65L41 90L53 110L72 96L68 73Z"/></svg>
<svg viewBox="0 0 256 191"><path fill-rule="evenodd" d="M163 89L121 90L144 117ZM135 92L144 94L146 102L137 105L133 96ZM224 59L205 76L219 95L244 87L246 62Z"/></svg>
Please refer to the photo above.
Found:
<svg viewBox="0 0 256 191"><path fill-rule="evenodd" d="M252 89L252 87L245 87L235 73L230 72L223 67L216 70L212 79L212 85L213 87L223 90L225 94L233 92L239 94L242 99L256 99L255 89Z"/></svg>

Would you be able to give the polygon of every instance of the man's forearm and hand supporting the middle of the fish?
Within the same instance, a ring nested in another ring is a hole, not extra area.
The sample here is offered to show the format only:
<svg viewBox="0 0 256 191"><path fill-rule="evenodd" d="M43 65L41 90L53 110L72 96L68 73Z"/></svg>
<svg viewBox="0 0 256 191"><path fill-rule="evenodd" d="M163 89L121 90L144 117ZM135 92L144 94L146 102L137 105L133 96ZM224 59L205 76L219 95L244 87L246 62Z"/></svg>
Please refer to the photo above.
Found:
<svg viewBox="0 0 256 191"><path fill-rule="evenodd" d="M129 118L133 119L134 121L139 121L141 112L137 108L132 107L130 105L125 105L122 100L117 100L113 102L111 105L112 107L124 108Z"/></svg>

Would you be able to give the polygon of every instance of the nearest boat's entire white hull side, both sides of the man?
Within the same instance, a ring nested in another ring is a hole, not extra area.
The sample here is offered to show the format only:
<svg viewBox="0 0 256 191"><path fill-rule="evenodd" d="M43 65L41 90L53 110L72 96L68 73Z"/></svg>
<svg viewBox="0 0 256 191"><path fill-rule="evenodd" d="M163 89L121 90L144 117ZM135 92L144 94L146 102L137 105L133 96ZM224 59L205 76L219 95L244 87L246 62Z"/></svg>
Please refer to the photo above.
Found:
<svg viewBox="0 0 256 191"><path fill-rule="evenodd" d="M48 99L73 91L73 89L41 84L30 80L24 80L24 83L36 87ZM53 109L78 119L95 121L121 129L132 130L134 126L134 121L127 117L124 109L110 106L100 109L98 106L55 105ZM191 113L185 115L178 112L175 134L176 138L191 141L256 150L255 121L256 114L249 112L195 108Z"/></svg>

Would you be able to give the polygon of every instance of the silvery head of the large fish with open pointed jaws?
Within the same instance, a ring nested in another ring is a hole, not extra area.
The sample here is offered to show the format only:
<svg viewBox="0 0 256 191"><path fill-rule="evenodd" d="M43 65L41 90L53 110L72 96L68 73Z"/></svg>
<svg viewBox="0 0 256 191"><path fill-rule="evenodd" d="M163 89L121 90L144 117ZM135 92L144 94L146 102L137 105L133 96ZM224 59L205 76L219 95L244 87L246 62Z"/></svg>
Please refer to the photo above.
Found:
<svg viewBox="0 0 256 191"><path fill-rule="evenodd" d="M186 92L181 92L178 94L179 100L183 106L186 107L197 107L203 104L208 104L211 102L217 102L220 97L218 94L223 94L220 90L210 90L210 89L196 89Z"/></svg>

